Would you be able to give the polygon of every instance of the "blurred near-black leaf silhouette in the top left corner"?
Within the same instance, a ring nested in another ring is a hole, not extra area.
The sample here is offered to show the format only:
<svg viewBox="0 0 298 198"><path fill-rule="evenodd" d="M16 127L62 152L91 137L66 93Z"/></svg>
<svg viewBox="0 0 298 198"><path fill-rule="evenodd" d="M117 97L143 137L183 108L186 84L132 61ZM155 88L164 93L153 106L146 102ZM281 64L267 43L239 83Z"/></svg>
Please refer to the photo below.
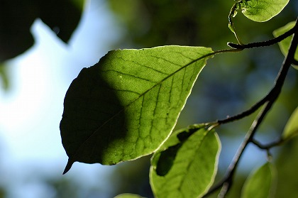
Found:
<svg viewBox="0 0 298 198"><path fill-rule="evenodd" d="M30 27L35 18L41 18L67 42L77 27L83 4L82 0L1 1L0 62L20 55L33 45Z"/></svg>

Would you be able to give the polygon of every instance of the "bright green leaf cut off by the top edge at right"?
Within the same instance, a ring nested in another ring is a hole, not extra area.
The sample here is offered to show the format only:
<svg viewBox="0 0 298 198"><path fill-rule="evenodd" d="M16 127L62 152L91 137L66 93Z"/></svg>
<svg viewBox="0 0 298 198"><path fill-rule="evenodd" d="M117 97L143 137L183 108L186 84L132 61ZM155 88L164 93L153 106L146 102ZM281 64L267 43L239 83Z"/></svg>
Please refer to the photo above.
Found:
<svg viewBox="0 0 298 198"><path fill-rule="evenodd" d="M243 0L241 10L252 21L265 22L277 16L289 0Z"/></svg>

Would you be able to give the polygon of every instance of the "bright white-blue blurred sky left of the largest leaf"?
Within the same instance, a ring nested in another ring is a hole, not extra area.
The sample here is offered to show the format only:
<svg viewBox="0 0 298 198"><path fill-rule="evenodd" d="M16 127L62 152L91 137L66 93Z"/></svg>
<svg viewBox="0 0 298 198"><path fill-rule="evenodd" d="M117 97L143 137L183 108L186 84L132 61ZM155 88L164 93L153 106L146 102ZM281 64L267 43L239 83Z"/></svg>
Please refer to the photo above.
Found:
<svg viewBox="0 0 298 198"><path fill-rule="evenodd" d="M83 67L94 65L111 50L121 31L114 24L104 3L88 1L68 45L36 19L31 26L35 45L9 60L11 88L0 91L0 185L11 189L11 197L45 194L46 189L35 182L24 184L32 172L62 174L67 155L59 123L65 93ZM92 185L96 181L92 172L109 170L113 168L75 163L65 177L84 171L80 179L85 177Z"/></svg>

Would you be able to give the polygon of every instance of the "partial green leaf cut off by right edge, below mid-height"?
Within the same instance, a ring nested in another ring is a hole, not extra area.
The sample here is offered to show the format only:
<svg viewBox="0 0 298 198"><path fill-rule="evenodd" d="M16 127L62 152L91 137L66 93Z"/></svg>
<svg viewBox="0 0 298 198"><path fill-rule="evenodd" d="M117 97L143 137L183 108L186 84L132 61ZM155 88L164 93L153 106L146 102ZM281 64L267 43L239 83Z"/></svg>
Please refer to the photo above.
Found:
<svg viewBox="0 0 298 198"><path fill-rule="evenodd" d="M292 115L289 117L285 126L284 132L282 133L283 139L289 139L298 135L298 107L294 110Z"/></svg>

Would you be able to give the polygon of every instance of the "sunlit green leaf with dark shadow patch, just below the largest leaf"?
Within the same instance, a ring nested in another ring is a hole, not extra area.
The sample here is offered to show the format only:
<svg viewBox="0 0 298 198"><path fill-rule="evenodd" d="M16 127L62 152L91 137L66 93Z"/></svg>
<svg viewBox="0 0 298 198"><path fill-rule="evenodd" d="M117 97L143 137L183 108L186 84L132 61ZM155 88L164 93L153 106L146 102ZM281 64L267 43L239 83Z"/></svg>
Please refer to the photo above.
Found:
<svg viewBox="0 0 298 198"><path fill-rule="evenodd" d="M214 182L221 145L215 131L176 131L153 155L150 184L156 197L202 197Z"/></svg>

